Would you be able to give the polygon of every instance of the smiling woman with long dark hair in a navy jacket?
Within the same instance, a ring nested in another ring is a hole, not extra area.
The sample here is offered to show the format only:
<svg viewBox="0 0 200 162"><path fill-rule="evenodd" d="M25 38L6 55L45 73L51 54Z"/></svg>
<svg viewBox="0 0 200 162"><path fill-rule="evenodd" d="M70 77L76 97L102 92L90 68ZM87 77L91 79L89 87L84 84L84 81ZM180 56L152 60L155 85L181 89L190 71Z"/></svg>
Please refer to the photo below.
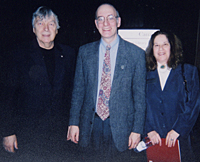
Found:
<svg viewBox="0 0 200 162"><path fill-rule="evenodd" d="M190 132L199 113L197 68L181 64L182 45L176 35L155 32L146 50L147 114L145 132L152 144L173 147L180 141L181 158L193 161ZM161 143L161 138L166 142Z"/></svg>

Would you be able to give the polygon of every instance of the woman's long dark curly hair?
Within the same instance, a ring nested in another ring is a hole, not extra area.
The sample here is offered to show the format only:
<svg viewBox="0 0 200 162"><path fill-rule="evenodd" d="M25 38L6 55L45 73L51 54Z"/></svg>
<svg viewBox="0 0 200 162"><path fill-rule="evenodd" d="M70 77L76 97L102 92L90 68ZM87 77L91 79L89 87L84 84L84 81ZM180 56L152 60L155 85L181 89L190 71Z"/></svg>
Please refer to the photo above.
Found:
<svg viewBox="0 0 200 162"><path fill-rule="evenodd" d="M170 56L167 62L168 67L175 69L182 62L183 49L180 39L173 33L166 31L156 31L149 40L149 45L146 49L146 66L149 71L157 68L157 61L153 55L153 45L156 36L165 35L170 44Z"/></svg>

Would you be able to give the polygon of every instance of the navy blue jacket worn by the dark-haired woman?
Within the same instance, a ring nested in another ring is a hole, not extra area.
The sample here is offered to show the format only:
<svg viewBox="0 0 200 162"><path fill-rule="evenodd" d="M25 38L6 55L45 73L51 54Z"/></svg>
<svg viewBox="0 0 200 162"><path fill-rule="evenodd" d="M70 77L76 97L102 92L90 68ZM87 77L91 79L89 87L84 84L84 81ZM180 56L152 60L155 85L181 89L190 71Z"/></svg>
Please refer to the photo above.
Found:
<svg viewBox="0 0 200 162"><path fill-rule="evenodd" d="M161 90L157 70L147 73L146 103L147 114L145 132L155 130L165 138L170 130L180 137L187 137L194 126L199 113L199 78L197 68L185 64L184 75L187 80L188 102L183 82L181 65L172 69Z"/></svg>

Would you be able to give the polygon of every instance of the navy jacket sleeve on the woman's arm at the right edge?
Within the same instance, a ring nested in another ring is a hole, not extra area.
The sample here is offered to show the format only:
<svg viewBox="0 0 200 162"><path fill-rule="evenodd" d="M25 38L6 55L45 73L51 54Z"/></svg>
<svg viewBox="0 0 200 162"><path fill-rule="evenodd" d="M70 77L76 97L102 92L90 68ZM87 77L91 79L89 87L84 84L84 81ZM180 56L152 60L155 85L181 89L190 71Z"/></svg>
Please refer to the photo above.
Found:
<svg viewBox="0 0 200 162"><path fill-rule="evenodd" d="M187 69L189 68L185 68L185 77L189 91L188 102L184 101L183 111L181 114L179 114L172 128L183 137L188 136L191 132L197 120L200 106L199 78L197 68L192 68L192 75L188 75L190 72Z"/></svg>

